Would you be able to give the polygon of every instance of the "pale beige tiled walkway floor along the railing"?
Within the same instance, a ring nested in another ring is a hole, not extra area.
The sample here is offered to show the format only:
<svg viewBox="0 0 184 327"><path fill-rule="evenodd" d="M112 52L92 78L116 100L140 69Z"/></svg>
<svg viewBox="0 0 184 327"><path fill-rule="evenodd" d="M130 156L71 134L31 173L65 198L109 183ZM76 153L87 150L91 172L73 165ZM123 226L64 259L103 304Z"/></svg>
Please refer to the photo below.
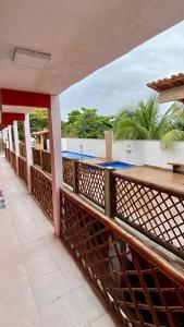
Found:
<svg viewBox="0 0 184 327"><path fill-rule="evenodd" d="M0 327L116 326L3 157L0 190Z"/></svg>

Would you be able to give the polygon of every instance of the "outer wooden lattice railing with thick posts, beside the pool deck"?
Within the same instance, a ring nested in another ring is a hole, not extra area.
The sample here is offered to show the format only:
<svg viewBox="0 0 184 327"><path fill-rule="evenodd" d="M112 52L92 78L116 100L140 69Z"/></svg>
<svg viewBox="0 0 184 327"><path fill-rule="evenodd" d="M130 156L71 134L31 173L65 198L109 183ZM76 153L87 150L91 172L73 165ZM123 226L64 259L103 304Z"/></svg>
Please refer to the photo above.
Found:
<svg viewBox="0 0 184 327"><path fill-rule="evenodd" d="M42 152L50 172L50 154ZM184 192L124 177L97 165L63 158L63 181L140 233L184 259Z"/></svg>

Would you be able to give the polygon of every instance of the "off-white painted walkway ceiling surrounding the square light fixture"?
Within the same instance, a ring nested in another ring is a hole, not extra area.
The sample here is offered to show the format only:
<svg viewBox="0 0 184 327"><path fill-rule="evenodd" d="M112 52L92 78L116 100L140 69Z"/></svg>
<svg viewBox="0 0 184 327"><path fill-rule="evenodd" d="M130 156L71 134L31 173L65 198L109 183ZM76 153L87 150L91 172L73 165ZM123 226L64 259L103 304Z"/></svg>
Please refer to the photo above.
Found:
<svg viewBox="0 0 184 327"><path fill-rule="evenodd" d="M183 19L183 0L1 1L0 87L60 94ZM51 53L51 62L16 66L15 46Z"/></svg>

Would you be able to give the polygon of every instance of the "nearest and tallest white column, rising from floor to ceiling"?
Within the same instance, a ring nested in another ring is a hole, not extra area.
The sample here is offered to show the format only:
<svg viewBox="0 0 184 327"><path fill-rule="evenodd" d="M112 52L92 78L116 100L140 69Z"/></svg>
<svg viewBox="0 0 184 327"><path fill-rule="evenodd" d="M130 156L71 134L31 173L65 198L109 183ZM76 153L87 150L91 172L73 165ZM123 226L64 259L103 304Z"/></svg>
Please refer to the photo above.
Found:
<svg viewBox="0 0 184 327"><path fill-rule="evenodd" d="M51 96L51 109L48 109L50 133L50 158L52 171L52 205L54 233L60 235L60 187L63 185L61 155L61 114L60 97Z"/></svg>

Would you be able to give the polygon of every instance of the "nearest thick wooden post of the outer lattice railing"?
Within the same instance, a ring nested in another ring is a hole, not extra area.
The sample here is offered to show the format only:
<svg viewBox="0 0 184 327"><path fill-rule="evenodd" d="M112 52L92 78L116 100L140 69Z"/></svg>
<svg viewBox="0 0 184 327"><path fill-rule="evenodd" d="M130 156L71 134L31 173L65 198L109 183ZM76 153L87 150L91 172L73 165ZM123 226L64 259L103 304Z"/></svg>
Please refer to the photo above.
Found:
<svg viewBox="0 0 184 327"><path fill-rule="evenodd" d="M114 216L114 195L115 190L112 181L113 169L105 168L105 215Z"/></svg>

